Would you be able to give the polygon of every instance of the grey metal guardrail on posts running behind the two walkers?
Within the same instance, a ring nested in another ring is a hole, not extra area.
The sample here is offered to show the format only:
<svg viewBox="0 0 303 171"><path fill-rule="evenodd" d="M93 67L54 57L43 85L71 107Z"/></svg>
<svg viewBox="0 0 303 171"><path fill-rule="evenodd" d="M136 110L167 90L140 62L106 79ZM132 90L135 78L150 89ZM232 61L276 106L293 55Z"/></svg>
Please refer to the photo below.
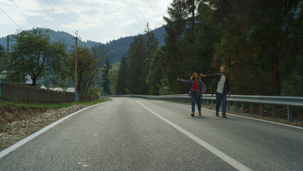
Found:
<svg viewBox="0 0 303 171"><path fill-rule="evenodd" d="M144 98L148 100L165 100L179 103L191 103L191 98L187 94L179 95L107 95L100 96L100 98L115 98L115 97L132 97ZM213 105L216 101L216 95L203 94L203 101L206 105ZM230 103L233 103L235 112L238 110L237 104L241 104L242 112L245 111L245 104L250 103L250 113L253 113L253 105L261 105L261 115L265 113L265 105L272 105L273 118L277 114L277 106L287 106L287 120L292 120L292 108L303 108L303 97L293 96L267 96L267 95L230 95L227 98L228 110L230 110Z"/></svg>

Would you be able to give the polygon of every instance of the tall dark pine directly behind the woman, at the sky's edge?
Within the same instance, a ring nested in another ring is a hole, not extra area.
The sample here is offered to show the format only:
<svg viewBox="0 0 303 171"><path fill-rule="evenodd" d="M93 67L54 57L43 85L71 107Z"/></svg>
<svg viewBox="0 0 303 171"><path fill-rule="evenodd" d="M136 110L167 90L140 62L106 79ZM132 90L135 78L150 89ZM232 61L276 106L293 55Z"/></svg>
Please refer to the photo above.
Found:
<svg viewBox="0 0 303 171"><path fill-rule="evenodd" d="M165 56L161 65L166 72L170 90L186 93L186 86L176 82L176 78L189 78L193 73L196 41L196 10L201 1L174 0L169 6L169 17L164 17L166 25ZM198 72L198 71L194 71Z"/></svg>

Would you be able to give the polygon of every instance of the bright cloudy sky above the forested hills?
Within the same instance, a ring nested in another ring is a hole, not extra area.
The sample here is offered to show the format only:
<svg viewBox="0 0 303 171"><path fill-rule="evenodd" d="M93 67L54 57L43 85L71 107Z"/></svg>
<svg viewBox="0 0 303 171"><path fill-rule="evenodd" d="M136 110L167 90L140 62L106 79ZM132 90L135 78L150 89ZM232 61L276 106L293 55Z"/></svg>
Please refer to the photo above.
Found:
<svg viewBox="0 0 303 171"><path fill-rule="evenodd" d="M0 0L0 37L33 27L107 41L165 24L172 0Z"/></svg>

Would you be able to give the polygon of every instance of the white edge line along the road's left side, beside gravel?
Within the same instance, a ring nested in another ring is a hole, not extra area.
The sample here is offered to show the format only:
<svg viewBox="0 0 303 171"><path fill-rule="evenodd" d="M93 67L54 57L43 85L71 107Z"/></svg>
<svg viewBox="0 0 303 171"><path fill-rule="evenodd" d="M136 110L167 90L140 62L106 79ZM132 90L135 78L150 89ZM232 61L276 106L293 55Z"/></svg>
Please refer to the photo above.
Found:
<svg viewBox="0 0 303 171"><path fill-rule="evenodd" d="M110 102L110 101L107 101ZM101 104L105 104L107 102L104 103L98 103L95 105L101 105ZM87 108L92 108L95 105L90 105ZM58 123L61 123L63 120L66 120L67 118L72 117L73 115L82 112L83 110L86 110L87 108L83 108L81 110L76 111L75 113L71 113L70 115L65 116L64 118L61 118L60 120L55 121L55 123L51 123L50 125L47 125L45 128L42 128L41 130L38 130L36 133L33 133L32 135L29 135L27 138L24 138L23 140L16 142L16 144L11 145L10 147L7 147L6 149L2 150L0 152L0 159L2 157L4 157L5 155L9 154L9 152L12 152L14 150L16 150L18 147L20 147L21 145L25 144L26 142L32 140L33 138L36 138L38 135L41 135L41 133L46 132L46 130L49 130L50 128L52 128L53 126L57 125Z"/></svg>

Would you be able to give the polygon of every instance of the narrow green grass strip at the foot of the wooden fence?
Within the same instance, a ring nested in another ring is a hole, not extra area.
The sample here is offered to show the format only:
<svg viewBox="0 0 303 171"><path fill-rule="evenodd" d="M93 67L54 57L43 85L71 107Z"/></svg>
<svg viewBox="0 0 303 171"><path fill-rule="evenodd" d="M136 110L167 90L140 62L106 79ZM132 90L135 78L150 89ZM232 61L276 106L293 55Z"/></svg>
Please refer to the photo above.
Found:
<svg viewBox="0 0 303 171"><path fill-rule="evenodd" d="M72 102L72 103L60 103L60 104L42 104L42 103L13 103L5 102L1 100L0 108L3 108L7 105L15 105L20 108L66 108L71 105L95 105L97 103L102 103L111 100L110 98L102 98L100 100L95 100L92 102Z"/></svg>

